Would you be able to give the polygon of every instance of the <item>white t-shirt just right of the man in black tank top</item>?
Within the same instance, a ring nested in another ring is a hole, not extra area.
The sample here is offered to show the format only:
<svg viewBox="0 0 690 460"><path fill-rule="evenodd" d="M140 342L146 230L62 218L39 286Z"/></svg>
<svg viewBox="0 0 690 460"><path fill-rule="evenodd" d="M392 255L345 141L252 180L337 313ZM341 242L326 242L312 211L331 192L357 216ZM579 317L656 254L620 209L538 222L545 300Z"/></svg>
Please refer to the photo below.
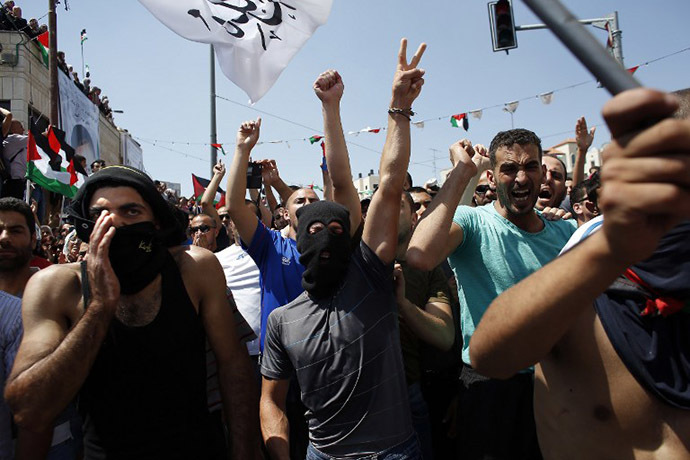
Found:
<svg viewBox="0 0 690 460"><path fill-rule="evenodd" d="M258 355L258 337L261 335L259 267L249 254L236 244L231 244L215 255L223 267L225 280L235 298L237 309L257 336L256 339L247 342L247 350L250 355Z"/></svg>

